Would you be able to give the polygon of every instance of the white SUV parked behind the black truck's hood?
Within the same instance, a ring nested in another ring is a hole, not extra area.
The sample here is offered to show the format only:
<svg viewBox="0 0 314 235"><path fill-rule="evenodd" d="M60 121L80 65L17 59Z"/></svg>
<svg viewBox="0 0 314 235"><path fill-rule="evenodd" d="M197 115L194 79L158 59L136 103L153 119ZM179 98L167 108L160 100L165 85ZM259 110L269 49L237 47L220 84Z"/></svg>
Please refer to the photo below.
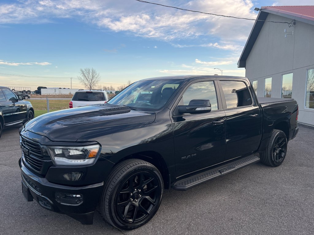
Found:
<svg viewBox="0 0 314 235"><path fill-rule="evenodd" d="M76 91L69 103L69 108L76 108L89 104L103 104L109 100L104 90L81 90Z"/></svg>

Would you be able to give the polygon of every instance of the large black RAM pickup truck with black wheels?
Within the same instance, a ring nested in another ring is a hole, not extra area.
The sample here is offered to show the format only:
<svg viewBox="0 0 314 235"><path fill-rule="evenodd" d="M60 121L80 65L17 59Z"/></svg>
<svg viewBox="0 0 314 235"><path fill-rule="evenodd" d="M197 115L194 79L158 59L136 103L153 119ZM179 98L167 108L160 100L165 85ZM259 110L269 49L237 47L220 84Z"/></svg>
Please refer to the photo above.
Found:
<svg viewBox="0 0 314 235"><path fill-rule="evenodd" d="M47 210L134 229L164 189L187 190L262 161L279 166L298 133L294 99L261 98L247 78L137 81L106 104L41 115L20 128L22 191Z"/></svg>

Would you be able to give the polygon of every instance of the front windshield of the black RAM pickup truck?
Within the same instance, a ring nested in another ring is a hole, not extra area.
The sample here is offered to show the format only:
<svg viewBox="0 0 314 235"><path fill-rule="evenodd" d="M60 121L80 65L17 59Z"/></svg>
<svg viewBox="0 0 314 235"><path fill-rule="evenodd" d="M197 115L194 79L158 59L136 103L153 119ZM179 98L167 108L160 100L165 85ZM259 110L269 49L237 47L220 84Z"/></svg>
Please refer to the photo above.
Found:
<svg viewBox="0 0 314 235"><path fill-rule="evenodd" d="M165 106L182 82L182 80L138 81L112 97L108 103L154 112Z"/></svg>

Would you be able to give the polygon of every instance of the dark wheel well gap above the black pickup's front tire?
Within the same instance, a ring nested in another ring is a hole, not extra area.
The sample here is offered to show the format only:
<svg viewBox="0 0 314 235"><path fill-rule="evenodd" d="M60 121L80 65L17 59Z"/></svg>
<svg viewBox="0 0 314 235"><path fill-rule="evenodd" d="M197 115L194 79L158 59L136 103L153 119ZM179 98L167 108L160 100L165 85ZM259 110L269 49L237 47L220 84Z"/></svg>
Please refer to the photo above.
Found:
<svg viewBox="0 0 314 235"><path fill-rule="evenodd" d="M140 160L147 161L153 164L162 175L162 178L164 181L164 188L165 189L170 188L171 180L170 180L169 169L166 165L165 160L161 156L161 154L159 154L156 151L137 152L137 153L133 153L133 154L123 157L118 162L116 162L116 164L119 164L120 162L128 160L128 159L140 159Z"/></svg>

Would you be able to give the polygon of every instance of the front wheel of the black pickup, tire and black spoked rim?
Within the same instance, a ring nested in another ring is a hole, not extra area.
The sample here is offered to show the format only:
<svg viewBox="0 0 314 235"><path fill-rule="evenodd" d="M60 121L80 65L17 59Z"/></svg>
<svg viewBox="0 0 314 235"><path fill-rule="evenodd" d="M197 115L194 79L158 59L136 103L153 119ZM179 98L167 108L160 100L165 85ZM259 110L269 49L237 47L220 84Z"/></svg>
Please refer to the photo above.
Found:
<svg viewBox="0 0 314 235"><path fill-rule="evenodd" d="M159 170L149 162L130 159L111 172L100 198L103 218L112 226L132 230L155 215L164 184Z"/></svg>

